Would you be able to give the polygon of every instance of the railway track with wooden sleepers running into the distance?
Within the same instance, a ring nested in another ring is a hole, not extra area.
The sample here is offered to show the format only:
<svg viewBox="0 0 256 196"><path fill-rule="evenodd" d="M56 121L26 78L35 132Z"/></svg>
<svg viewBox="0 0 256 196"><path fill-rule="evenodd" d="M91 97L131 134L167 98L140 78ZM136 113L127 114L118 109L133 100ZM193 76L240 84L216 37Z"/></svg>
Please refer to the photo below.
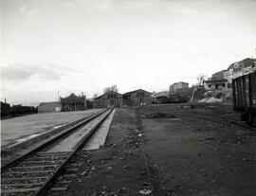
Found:
<svg viewBox="0 0 256 196"><path fill-rule="evenodd" d="M82 149L112 110L88 117L77 127L2 167L1 195L46 195L70 159ZM73 144L70 143L72 137Z"/></svg>

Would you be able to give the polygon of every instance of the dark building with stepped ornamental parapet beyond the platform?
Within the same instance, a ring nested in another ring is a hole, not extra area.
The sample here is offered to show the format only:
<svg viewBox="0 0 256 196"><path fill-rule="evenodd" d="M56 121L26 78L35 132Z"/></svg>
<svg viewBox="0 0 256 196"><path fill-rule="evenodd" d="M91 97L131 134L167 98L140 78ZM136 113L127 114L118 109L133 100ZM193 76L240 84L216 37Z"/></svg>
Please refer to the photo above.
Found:
<svg viewBox="0 0 256 196"><path fill-rule="evenodd" d="M61 106L63 112L86 110L86 98L71 93L69 97L61 98Z"/></svg>

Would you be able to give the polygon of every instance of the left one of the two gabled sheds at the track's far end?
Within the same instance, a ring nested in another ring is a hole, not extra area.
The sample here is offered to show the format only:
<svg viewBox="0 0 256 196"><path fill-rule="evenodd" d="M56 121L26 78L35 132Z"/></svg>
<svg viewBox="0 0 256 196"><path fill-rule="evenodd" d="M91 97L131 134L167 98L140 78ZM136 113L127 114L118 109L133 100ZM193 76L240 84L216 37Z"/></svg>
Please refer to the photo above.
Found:
<svg viewBox="0 0 256 196"><path fill-rule="evenodd" d="M93 100L93 108L119 107L122 104L122 95L115 91L107 92Z"/></svg>

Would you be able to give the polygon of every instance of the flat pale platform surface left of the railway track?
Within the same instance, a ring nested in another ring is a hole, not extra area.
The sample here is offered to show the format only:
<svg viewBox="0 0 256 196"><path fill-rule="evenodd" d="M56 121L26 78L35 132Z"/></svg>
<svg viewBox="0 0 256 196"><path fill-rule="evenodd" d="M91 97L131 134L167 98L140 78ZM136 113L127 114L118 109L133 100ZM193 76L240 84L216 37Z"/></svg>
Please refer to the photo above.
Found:
<svg viewBox="0 0 256 196"><path fill-rule="evenodd" d="M2 120L1 149L8 149L40 134L56 130L61 127L101 112L101 109L65 113L42 113L19 116Z"/></svg>

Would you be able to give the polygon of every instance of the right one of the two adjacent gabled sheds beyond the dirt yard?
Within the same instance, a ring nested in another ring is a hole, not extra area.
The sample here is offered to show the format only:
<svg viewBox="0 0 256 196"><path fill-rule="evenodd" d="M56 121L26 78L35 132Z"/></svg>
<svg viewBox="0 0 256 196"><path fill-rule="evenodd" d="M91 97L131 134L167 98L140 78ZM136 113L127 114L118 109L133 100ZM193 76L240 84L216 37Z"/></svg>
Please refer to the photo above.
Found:
<svg viewBox="0 0 256 196"><path fill-rule="evenodd" d="M153 101L153 98L151 96L152 93L143 89L137 89L135 91L130 91L122 95L123 104L128 106L151 104Z"/></svg>

